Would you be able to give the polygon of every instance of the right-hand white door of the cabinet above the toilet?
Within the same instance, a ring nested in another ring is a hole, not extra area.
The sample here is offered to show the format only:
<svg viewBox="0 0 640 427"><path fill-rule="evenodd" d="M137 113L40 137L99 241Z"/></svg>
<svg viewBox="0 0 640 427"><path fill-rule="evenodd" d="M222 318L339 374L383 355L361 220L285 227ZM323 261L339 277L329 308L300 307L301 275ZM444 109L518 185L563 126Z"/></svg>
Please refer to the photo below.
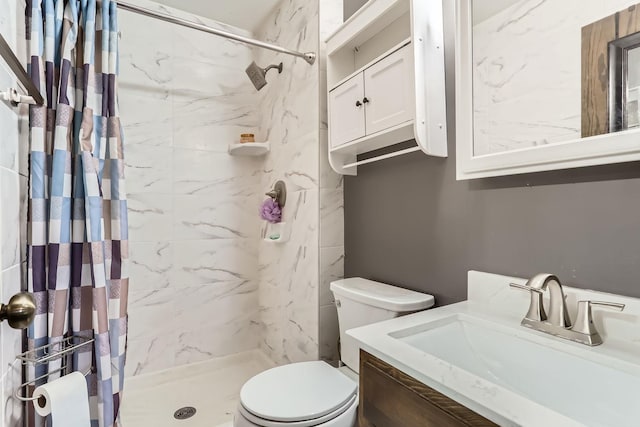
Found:
<svg viewBox="0 0 640 427"><path fill-rule="evenodd" d="M415 116L411 45L364 70L367 135L412 120Z"/></svg>

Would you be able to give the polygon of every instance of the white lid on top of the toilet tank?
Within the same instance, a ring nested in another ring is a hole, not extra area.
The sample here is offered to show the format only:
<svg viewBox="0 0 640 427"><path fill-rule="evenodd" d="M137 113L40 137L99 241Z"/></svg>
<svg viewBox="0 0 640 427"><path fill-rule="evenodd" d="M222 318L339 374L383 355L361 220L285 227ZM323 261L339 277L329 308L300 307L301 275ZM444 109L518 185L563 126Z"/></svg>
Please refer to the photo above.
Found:
<svg viewBox="0 0 640 427"><path fill-rule="evenodd" d="M433 295L363 279L362 277L336 280L331 282L330 289L334 294L341 297L398 313L424 310L435 303Z"/></svg>

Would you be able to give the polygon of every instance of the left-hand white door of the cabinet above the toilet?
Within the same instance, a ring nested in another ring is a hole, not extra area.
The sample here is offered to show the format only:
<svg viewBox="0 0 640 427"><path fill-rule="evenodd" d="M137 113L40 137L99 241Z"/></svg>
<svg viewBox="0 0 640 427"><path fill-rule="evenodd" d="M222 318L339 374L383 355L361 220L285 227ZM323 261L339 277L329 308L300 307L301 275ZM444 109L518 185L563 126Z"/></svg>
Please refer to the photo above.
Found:
<svg viewBox="0 0 640 427"><path fill-rule="evenodd" d="M329 92L331 147L364 136L364 80L362 73Z"/></svg>

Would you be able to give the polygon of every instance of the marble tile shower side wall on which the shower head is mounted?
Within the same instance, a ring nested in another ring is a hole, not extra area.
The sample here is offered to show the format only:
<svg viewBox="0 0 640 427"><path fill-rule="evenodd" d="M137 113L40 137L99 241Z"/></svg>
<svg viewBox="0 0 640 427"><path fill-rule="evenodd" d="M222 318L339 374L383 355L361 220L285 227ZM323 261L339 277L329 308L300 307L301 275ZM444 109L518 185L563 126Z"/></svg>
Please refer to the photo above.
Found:
<svg viewBox="0 0 640 427"><path fill-rule="evenodd" d="M318 2L284 0L256 37L301 52L318 49ZM267 50L264 67L283 62L260 91L260 128L271 142L261 187L279 179L288 189L284 221L288 243L260 241L260 348L276 363L317 359L319 281L319 87L318 65ZM264 230L263 230L264 233Z"/></svg>

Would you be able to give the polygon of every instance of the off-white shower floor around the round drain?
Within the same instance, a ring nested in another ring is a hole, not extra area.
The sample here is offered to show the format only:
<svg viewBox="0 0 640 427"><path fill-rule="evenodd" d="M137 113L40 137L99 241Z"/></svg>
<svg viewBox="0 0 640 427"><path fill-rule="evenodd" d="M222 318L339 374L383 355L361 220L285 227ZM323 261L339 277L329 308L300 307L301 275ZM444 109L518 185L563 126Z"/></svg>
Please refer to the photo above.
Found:
<svg viewBox="0 0 640 427"><path fill-rule="evenodd" d="M240 388L252 376L275 364L253 350L206 362L125 379L122 427L231 426ZM196 414L177 420L184 406Z"/></svg>

